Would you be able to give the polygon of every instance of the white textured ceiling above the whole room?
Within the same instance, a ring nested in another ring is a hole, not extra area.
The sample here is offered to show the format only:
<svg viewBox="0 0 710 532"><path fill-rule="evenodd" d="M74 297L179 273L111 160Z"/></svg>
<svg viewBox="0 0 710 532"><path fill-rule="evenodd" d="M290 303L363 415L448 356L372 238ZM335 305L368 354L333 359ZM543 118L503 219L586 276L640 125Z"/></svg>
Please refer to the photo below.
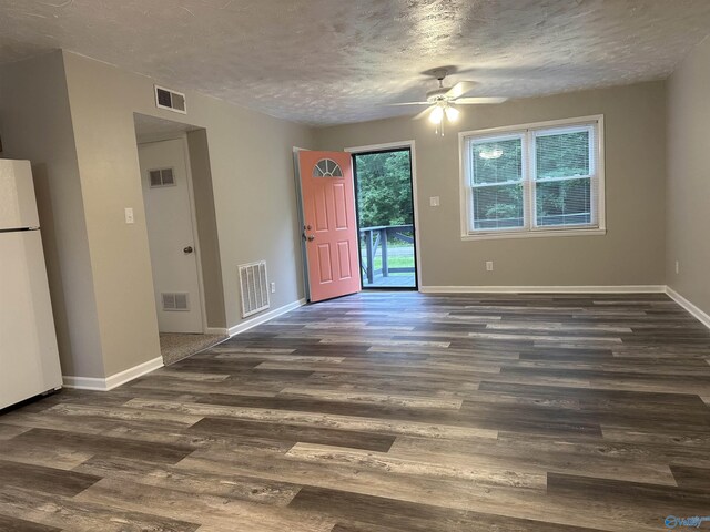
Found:
<svg viewBox="0 0 710 532"><path fill-rule="evenodd" d="M63 48L274 116L417 112L423 71L471 95L667 76L710 32L710 0L0 0L0 62Z"/></svg>

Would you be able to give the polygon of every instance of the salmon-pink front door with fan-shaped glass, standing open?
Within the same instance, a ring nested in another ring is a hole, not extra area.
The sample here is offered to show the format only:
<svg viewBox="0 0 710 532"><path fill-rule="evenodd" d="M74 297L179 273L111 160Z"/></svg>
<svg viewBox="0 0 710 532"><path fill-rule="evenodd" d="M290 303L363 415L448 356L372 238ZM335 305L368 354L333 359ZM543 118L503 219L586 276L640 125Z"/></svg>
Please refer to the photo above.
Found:
<svg viewBox="0 0 710 532"><path fill-rule="evenodd" d="M298 152L311 301L359 291L349 153Z"/></svg>

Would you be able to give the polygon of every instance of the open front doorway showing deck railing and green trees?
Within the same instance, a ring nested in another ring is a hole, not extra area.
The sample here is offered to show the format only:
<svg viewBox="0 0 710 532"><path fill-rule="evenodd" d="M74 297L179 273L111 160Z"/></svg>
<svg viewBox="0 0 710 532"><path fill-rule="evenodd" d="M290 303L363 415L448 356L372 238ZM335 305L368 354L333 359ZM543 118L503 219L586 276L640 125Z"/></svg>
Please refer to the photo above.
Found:
<svg viewBox="0 0 710 532"><path fill-rule="evenodd" d="M364 289L418 287L412 149L353 153Z"/></svg>

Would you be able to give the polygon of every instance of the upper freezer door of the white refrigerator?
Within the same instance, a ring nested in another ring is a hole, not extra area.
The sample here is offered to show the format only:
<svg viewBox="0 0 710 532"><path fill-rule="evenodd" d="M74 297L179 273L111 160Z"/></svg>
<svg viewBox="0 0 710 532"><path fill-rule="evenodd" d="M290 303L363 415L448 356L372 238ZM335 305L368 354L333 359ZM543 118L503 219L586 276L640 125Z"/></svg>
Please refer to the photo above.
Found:
<svg viewBox="0 0 710 532"><path fill-rule="evenodd" d="M0 231L39 226L30 162L0 158Z"/></svg>

